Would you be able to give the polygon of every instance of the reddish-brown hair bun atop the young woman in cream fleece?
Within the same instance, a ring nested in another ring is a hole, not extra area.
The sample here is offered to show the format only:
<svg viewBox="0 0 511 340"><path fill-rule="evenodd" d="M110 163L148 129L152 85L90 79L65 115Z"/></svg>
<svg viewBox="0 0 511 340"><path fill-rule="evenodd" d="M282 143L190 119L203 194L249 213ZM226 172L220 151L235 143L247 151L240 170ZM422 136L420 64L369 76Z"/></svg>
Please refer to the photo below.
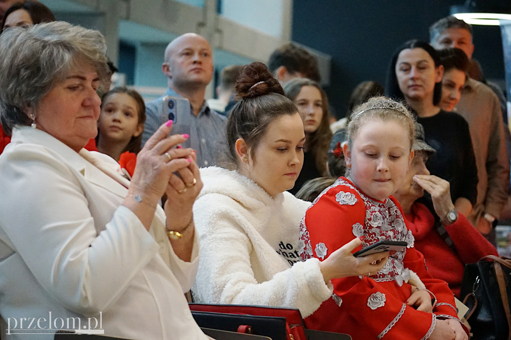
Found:
<svg viewBox="0 0 511 340"><path fill-rule="evenodd" d="M242 99L269 93L284 95L281 84L273 78L268 67L259 61L243 66L236 81L236 92Z"/></svg>

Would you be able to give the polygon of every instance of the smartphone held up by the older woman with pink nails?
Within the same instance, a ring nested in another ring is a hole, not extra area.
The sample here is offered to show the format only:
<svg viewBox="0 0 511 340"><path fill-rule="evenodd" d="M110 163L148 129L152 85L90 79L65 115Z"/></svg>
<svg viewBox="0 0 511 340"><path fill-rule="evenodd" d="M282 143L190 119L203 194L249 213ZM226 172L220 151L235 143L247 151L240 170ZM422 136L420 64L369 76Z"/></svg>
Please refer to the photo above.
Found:
<svg viewBox="0 0 511 340"><path fill-rule="evenodd" d="M191 134L190 119L192 107L186 98L167 95L161 100L161 124L173 120L170 134ZM191 148L190 139L181 144L183 148Z"/></svg>

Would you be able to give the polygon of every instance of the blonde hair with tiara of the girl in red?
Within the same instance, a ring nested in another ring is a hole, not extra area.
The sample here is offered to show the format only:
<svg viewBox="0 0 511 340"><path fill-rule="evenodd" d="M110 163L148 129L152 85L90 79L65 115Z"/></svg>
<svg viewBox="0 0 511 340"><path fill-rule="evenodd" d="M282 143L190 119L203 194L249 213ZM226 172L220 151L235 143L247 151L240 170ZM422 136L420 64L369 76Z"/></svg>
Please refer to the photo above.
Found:
<svg viewBox="0 0 511 340"><path fill-rule="evenodd" d="M346 140L350 148L353 147L353 140L360 127L364 123L375 119L382 120L383 122L388 122L389 120L399 122L408 132L411 150L415 141L415 118L404 104L384 96L371 98L353 110L350 123L346 127Z"/></svg>

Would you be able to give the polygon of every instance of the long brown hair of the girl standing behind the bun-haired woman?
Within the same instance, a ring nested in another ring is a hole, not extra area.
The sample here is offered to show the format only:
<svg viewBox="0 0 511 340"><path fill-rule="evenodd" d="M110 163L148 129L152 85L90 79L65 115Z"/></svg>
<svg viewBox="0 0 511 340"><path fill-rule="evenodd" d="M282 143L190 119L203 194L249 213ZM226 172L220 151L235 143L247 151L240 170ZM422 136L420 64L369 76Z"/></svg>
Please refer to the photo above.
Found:
<svg viewBox="0 0 511 340"><path fill-rule="evenodd" d="M305 142L305 149L312 151L314 159L316 161L316 168L319 173L323 176L328 175L327 171L327 152L332 139L332 131L330 130L330 111L328 109L327 94L324 93L321 86L313 80L307 78L295 78L290 80L284 85L284 92L287 98L292 100L296 99L298 93L303 86L313 86L321 93L321 102L323 109L323 116L321 117L321 123L316 131L307 136Z"/></svg>

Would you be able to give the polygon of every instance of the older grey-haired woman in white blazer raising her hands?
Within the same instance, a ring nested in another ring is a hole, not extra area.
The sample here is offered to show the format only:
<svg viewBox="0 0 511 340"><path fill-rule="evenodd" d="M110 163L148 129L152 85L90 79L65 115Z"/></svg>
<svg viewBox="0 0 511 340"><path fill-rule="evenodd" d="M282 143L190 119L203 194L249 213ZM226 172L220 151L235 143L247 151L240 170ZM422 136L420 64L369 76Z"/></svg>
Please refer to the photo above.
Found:
<svg viewBox="0 0 511 340"><path fill-rule="evenodd" d="M51 22L11 28L0 45L0 118L12 133L0 156L9 338L85 329L206 339L183 296L197 271L192 205L202 187L193 150L175 148L187 136L163 124L128 182L113 159L82 149L96 136L96 90L108 76L103 36Z"/></svg>

